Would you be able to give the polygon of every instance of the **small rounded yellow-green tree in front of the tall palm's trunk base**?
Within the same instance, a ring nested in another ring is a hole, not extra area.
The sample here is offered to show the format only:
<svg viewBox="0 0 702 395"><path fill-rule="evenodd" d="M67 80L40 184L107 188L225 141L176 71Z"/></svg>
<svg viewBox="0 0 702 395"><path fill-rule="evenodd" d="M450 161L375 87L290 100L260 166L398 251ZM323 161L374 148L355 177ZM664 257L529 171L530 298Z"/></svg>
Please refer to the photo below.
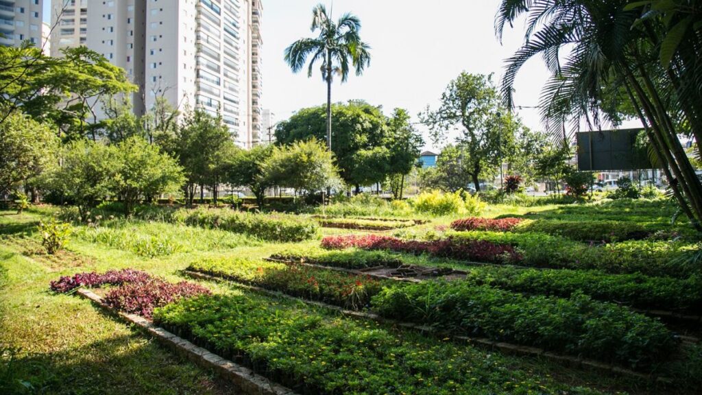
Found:
<svg viewBox="0 0 702 395"><path fill-rule="evenodd" d="M264 164L268 182L314 193L341 185L333 154L316 140L274 148Z"/></svg>

